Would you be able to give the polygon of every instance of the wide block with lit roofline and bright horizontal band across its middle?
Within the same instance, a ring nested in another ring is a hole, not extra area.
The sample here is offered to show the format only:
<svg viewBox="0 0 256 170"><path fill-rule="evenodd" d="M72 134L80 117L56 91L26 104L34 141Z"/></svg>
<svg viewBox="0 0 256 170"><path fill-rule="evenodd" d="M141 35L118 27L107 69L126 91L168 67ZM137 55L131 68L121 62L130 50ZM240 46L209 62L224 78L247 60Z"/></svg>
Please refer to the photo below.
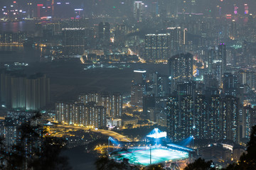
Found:
<svg viewBox="0 0 256 170"><path fill-rule="evenodd" d="M145 37L145 60L154 62L169 57L169 33L147 34Z"/></svg>

